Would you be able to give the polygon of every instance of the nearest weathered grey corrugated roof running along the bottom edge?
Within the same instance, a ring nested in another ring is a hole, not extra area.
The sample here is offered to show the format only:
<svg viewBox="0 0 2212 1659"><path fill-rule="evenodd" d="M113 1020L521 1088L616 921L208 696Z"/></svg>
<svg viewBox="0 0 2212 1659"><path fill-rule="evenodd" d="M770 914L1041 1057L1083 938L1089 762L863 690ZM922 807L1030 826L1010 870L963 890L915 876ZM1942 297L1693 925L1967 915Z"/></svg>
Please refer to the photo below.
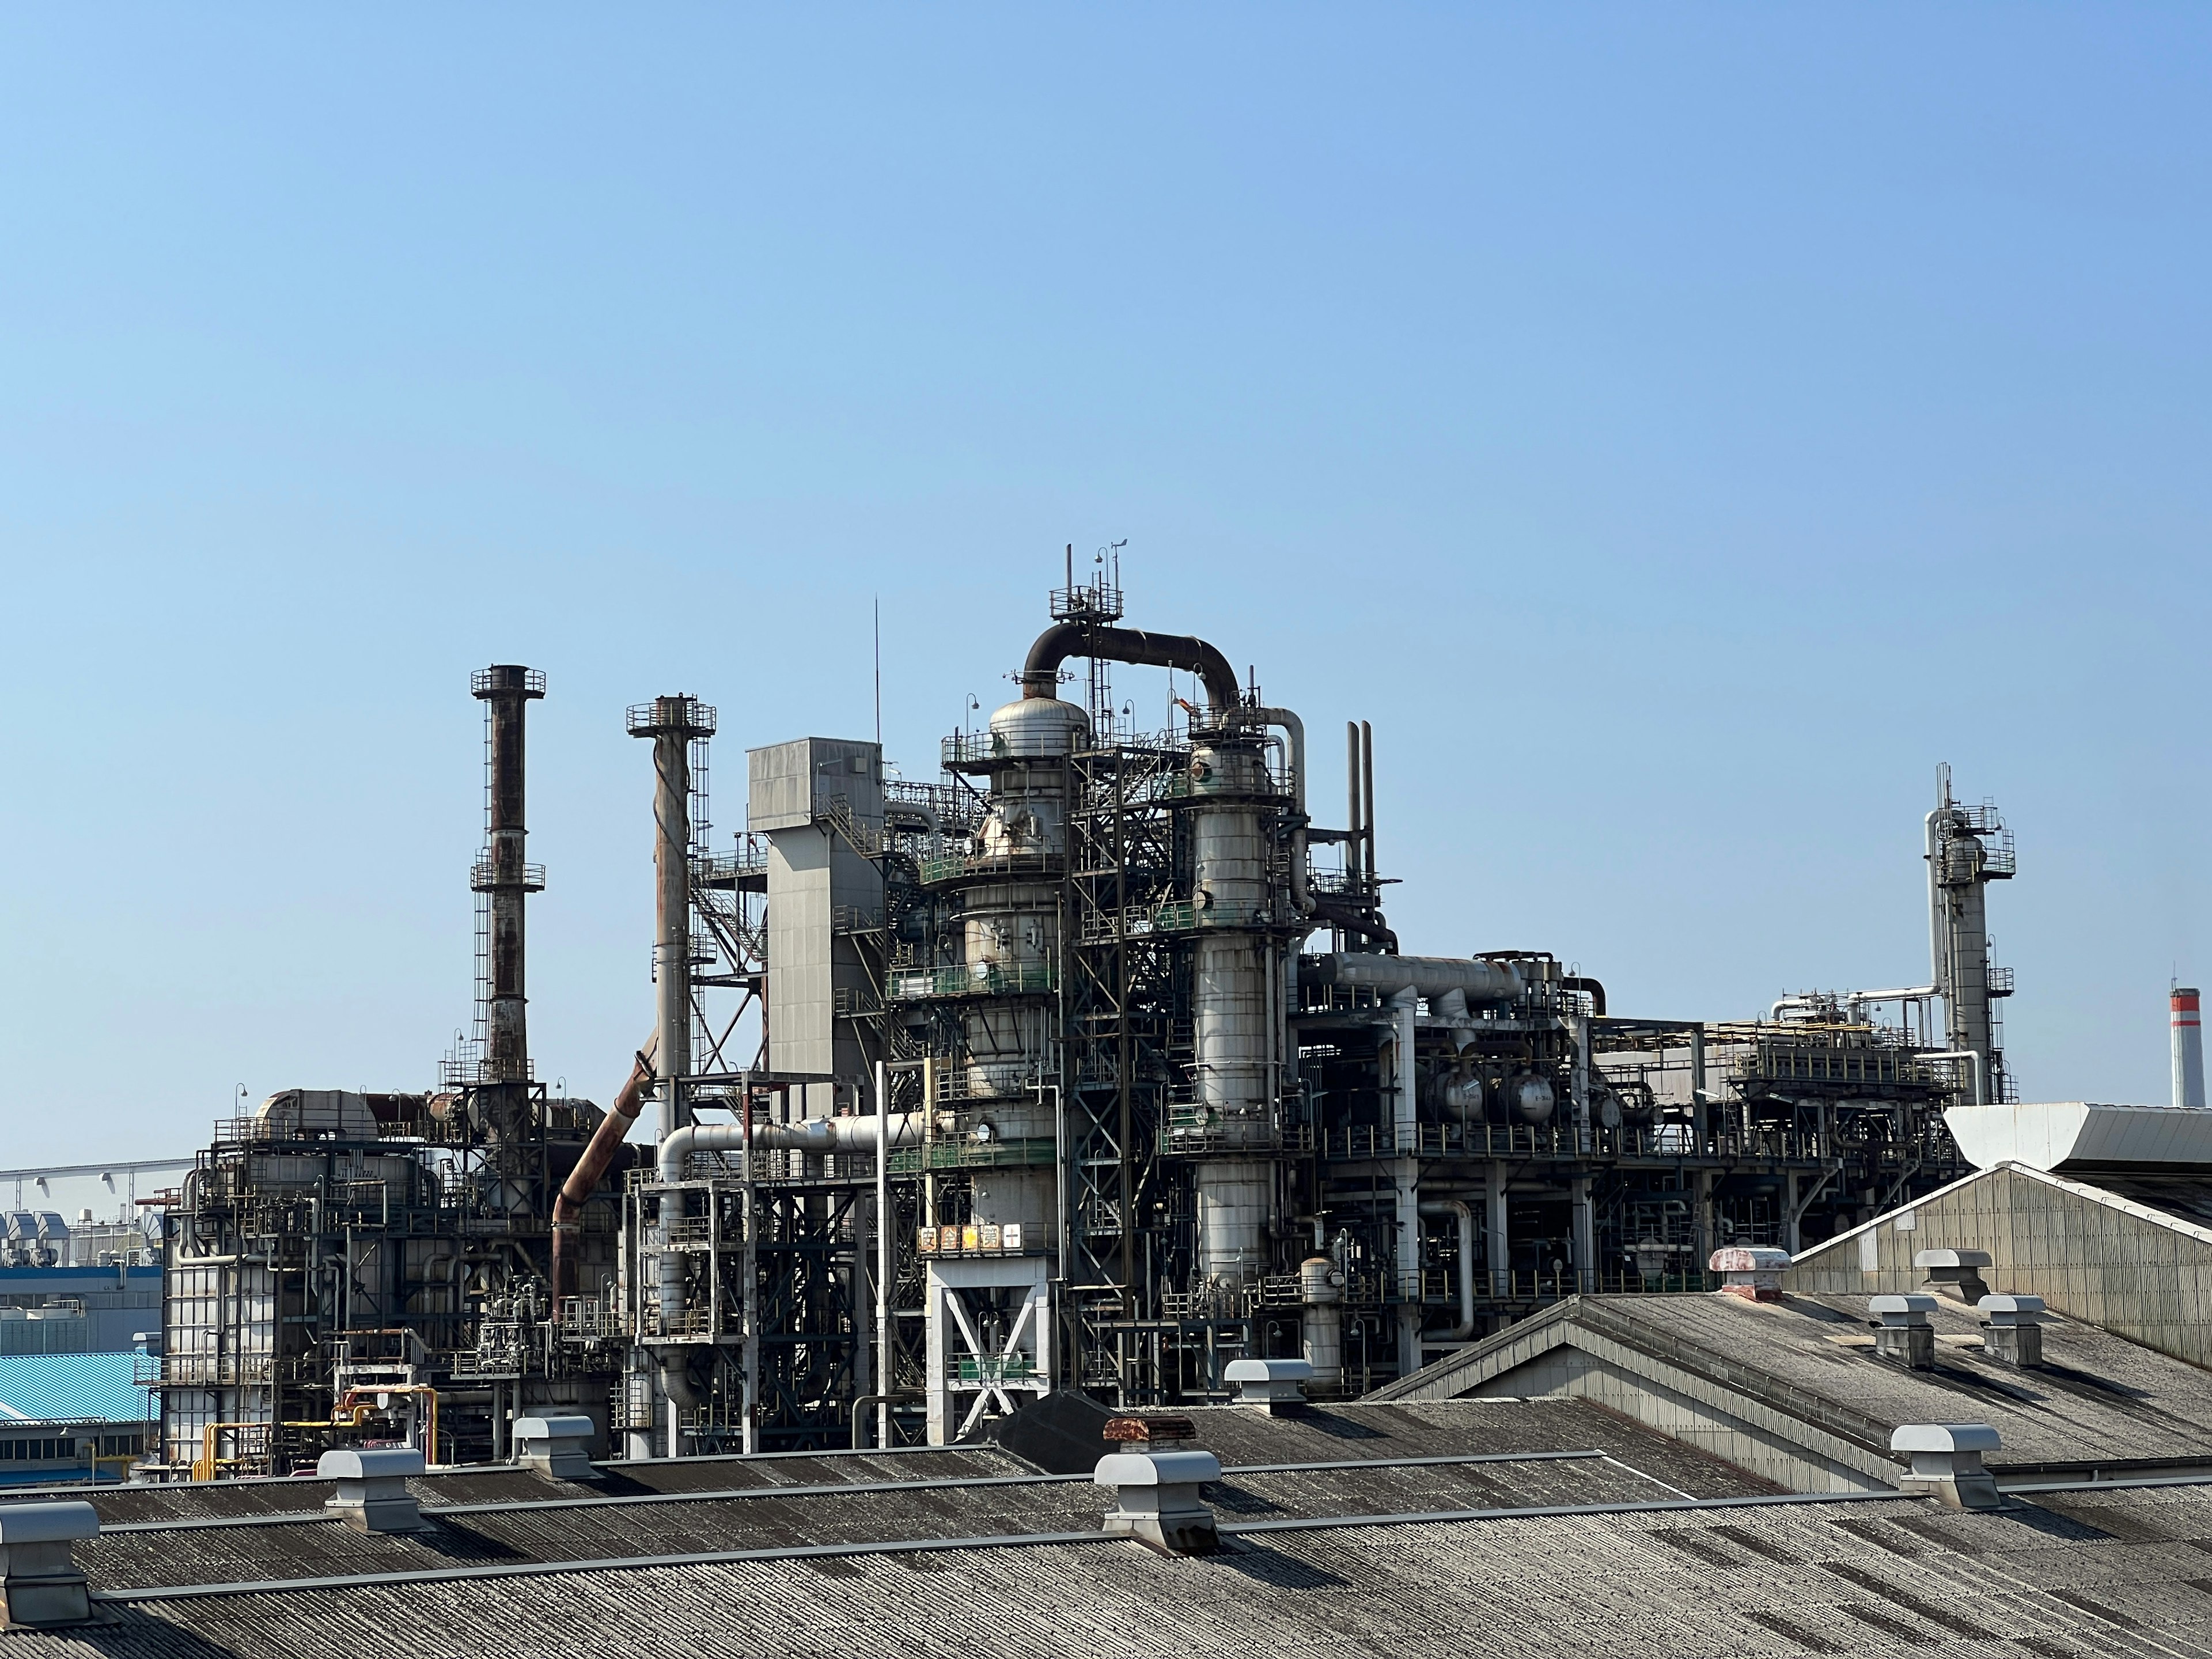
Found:
<svg viewBox="0 0 2212 1659"><path fill-rule="evenodd" d="M1212 1557L1108 1540L1099 1511L1084 1491L1066 1528L936 1544L896 1537L900 1513L872 1542L827 1551L557 1577L489 1562L409 1579L111 1590L97 1624L11 1632L7 1650L2073 1659L2201 1655L2212 1626L2212 1489L2199 1484L2042 1491L1986 1513L1823 1495L1389 1522L1223 1515Z"/></svg>

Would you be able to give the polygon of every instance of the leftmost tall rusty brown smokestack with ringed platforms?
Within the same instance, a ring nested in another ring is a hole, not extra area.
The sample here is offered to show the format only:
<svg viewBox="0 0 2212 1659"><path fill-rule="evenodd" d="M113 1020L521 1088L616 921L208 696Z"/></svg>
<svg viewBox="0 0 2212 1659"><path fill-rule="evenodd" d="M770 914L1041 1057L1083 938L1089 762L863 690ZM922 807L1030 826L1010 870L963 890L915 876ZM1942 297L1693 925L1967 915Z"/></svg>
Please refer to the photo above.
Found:
<svg viewBox="0 0 2212 1659"><path fill-rule="evenodd" d="M520 664L493 664L469 677L484 703L484 854L469 885L484 894L478 995L484 1002L484 1053L478 1079L522 1088L531 1079L531 1040L522 978L522 898L542 891L544 867L522 858L522 710L546 695L546 677Z"/></svg>

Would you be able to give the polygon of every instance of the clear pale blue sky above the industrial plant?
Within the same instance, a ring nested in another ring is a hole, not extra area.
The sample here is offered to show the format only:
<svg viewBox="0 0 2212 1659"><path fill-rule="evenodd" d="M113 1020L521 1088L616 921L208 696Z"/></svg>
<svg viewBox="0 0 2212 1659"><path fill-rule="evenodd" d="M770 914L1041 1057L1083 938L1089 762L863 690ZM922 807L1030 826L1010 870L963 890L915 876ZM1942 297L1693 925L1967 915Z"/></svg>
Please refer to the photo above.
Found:
<svg viewBox="0 0 2212 1659"><path fill-rule="evenodd" d="M2183 7L9 11L4 1161L434 1077L487 661L604 1099L624 703L721 708L726 836L748 743L867 734L880 595L920 774L1121 538L1135 622L1374 721L1407 949L1913 980L1951 761L2022 1088L2163 1099L2208 71Z"/></svg>

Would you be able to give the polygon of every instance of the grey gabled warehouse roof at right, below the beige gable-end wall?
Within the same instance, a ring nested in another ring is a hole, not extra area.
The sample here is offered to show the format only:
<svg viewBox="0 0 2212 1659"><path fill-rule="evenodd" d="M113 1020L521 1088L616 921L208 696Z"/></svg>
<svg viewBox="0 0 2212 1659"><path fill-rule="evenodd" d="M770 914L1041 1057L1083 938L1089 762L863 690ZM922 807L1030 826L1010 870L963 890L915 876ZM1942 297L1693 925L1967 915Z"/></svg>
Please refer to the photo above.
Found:
<svg viewBox="0 0 2212 1659"><path fill-rule="evenodd" d="M2066 1318L2044 1329L2044 1367L2020 1369L1982 1349L1971 1307L1938 1301L1931 1318L1936 1367L1913 1371L1876 1358L1865 1296L1577 1296L1371 1398L1511 1394L1517 1369L1564 1345L1847 1442L1880 1478L1907 1422L1989 1422L2004 1440L1997 1471L2212 1464L2212 1374Z"/></svg>

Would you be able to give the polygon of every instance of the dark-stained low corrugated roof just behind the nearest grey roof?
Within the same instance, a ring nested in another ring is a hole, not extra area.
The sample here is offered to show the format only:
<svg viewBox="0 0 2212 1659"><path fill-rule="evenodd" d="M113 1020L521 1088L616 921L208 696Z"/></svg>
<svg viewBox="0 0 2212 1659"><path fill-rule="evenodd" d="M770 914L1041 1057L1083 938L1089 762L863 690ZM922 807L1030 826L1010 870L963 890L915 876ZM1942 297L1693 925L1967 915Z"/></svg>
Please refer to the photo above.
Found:
<svg viewBox="0 0 2212 1659"><path fill-rule="evenodd" d="M1776 1486L1586 1400L1316 1407L1270 1418L1190 1413L1225 1467L1225 1515L1526 1509L1743 1498ZM580 1562L883 1537L1088 1526L1091 1469L1044 1473L998 1447L787 1453L602 1464L602 1480L460 1469L409 1482L429 1531L352 1533L323 1520L325 1480L82 1489L102 1535L95 1586L186 1577L316 1577L451 1562ZM259 1524L257 1524L259 1522Z"/></svg>

